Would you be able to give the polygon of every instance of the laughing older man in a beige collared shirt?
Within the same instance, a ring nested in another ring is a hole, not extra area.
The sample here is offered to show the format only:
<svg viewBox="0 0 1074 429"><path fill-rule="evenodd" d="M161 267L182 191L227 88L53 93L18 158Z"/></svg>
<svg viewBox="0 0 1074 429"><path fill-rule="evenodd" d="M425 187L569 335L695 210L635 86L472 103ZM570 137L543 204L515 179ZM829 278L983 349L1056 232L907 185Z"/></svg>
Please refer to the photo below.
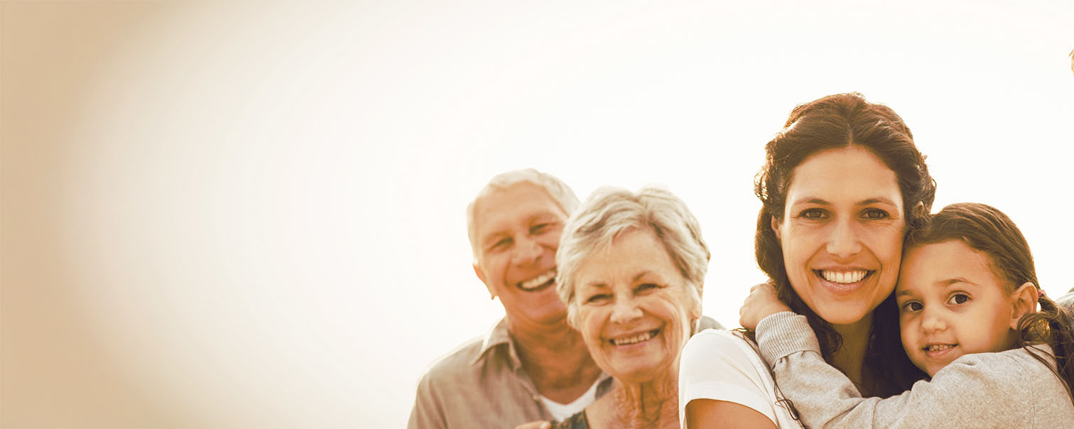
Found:
<svg viewBox="0 0 1074 429"><path fill-rule="evenodd" d="M566 184L533 169L493 177L469 204L474 272L507 314L425 373L410 429L563 420L608 389L555 291L560 233L578 204Z"/></svg>

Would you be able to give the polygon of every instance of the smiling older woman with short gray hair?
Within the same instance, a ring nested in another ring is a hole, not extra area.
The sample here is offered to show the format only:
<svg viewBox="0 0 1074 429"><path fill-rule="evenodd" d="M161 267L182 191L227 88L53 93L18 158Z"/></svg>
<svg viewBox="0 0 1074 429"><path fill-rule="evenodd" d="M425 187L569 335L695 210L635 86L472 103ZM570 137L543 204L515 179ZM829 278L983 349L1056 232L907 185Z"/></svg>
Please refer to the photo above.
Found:
<svg viewBox="0 0 1074 429"><path fill-rule="evenodd" d="M556 287L567 323L613 383L557 427L679 427L679 354L715 325L701 316L708 263L697 219L670 192L590 196L564 227Z"/></svg>

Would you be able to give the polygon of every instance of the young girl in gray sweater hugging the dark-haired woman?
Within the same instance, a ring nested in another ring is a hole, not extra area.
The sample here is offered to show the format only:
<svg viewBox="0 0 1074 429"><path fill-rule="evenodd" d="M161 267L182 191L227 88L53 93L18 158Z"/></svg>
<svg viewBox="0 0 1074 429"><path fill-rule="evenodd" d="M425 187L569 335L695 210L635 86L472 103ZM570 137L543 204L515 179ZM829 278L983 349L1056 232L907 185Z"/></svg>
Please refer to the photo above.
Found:
<svg viewBox="0 0 1074 429"><path fill-rule="evenodd" d="M903 348L928 378L887 399L861 398L825 363L770 286L754 287L741 323L813 429L1074 427L1071 315L1036 285L1026 239L991 206L952 204L911 231L895 294Z"/></svg>

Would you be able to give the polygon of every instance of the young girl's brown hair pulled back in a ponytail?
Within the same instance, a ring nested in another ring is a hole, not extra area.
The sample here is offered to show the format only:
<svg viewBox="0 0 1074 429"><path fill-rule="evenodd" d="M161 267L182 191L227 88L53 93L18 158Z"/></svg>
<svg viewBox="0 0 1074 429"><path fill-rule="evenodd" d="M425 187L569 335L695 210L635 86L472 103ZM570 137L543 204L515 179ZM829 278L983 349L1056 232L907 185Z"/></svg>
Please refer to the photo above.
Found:
<svg viewBox="0 0 1074 429"><path fill-rule="evenodd" d="M1036 268L1029 243L1003 212L975 202L950 204L929 219L925 227L912 230L906 237L905 248L925 244L959 240L988 258L992 274L1003 286L1003 294L1011 295L1021 285L1032 283L1040 289ZM1051 364L1030 344L1045 343L1056 354L1056 368L1051 371L1063 382L1071 395L1074 384L1074 330L1071 313L1047 296L1040 297L1041 311L1030 312L1018 320L1018 346L1033 355L1049 369ZM1034 309L1035 310L1035 309ZM1074 403L1074 395L1071 396Z"/></svg>

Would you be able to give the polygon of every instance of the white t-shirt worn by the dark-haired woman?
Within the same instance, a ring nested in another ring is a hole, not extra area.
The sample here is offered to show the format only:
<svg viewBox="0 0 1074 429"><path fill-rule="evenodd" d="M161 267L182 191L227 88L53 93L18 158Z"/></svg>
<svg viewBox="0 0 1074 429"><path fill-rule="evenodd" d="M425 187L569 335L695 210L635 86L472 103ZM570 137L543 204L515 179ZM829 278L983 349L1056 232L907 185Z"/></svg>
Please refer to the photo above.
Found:
<svg viewBox="0 0 1074 429"><path fill-rule="evenodd" d="M684 428L686 404L695 399L749 406L780 429L801 427L777 402L772 373L751 342L738 332L706 329L686 342L679 362L679 420Z"/></svg>

